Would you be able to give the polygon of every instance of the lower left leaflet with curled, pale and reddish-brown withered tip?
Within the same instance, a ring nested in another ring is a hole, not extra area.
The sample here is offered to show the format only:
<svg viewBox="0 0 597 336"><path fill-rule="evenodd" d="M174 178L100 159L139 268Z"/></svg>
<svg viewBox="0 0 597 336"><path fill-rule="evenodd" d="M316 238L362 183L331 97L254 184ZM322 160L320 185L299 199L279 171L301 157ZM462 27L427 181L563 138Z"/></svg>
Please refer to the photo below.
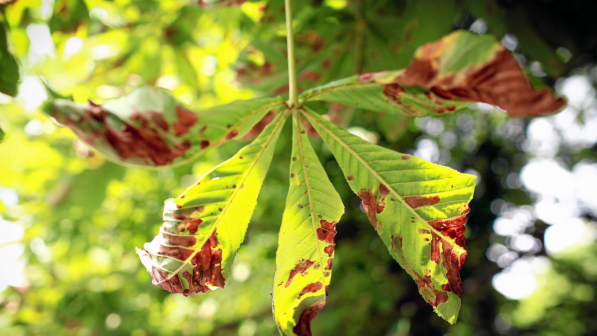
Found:
<svg viewBox="0 0 597 336"><path fill-rule="evenodd" d="M137 249L155 285L185 296L224 287L286 116L165 202L159 234Z"/></svg>

